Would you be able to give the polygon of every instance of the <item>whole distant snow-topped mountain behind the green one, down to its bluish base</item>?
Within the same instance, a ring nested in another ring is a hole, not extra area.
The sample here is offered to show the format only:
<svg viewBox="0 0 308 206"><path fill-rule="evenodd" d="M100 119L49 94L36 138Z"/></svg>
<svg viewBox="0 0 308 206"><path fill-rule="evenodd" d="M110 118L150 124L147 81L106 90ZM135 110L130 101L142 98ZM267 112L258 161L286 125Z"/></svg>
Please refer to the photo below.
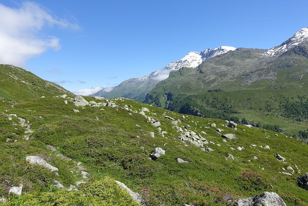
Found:
<svg viewBox="0 0 308 206"><path fill-rule="evenodd" d="M95 96L105 98L126 97L137 101L144 101L146 94L156 86L158 82L168 78L170 71L178 70L182 67L197 67L205 59L234 50L234 47L221 46L214 49L205 49L202 52L190 52L180 60L173 61L164 68L141 77L132 78L121 82L110 92L99 91Z"/></svg>

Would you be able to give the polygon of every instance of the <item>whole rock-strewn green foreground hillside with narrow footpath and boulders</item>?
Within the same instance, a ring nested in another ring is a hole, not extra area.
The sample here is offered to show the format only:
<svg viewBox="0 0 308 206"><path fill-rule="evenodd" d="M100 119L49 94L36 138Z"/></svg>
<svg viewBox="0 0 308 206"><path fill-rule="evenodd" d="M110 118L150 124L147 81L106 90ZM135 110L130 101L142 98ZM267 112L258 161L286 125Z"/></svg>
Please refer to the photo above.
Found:
<svg viewBox="0 0 308 206"><path fill-rule="evenodd" d="M307 205L296 178L308 172L308 146L294 138L124 98L63 97L0 102L5 205L136 205L114 179L143 205L233 205L228 201L264 191L288 206ZM157 147L160 156L152 153ZM29 155L58 175L25 161ZM53 187L54 179L64 188ZM9 194L21 185L21 196ZM73 185L79 191L67 191Z"/></svg>

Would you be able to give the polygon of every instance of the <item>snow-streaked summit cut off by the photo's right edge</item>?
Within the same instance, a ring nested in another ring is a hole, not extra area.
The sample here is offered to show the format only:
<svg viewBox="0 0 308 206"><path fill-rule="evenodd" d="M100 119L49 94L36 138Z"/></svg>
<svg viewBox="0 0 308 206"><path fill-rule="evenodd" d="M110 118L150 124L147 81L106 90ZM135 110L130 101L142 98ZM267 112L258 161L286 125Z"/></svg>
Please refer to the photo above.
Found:
<svg viewBox="0 0 308 206"><path fill-rule="evenodd" d="M277 56L286 51L294 48L296 45L308 40L308 27L302 28L296 32L291 38L280 44L279 46L273 47L264 53L264 56Z"/></svg>

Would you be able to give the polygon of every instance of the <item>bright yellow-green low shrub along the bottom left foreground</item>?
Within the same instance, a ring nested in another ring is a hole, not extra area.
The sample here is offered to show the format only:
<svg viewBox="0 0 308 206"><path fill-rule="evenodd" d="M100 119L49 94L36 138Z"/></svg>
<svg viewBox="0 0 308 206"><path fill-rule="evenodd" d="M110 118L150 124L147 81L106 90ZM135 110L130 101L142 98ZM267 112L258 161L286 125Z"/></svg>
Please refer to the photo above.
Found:
<svg viewBox="0 0 308 206"><path fill-rule="evenodd" d="M4 204L7 206L138 206L128 192L123 190L114 179L106 177L90 180L79 186L79 191L52 189L48 192L31 192L21 196L11 196Z"/></svg>

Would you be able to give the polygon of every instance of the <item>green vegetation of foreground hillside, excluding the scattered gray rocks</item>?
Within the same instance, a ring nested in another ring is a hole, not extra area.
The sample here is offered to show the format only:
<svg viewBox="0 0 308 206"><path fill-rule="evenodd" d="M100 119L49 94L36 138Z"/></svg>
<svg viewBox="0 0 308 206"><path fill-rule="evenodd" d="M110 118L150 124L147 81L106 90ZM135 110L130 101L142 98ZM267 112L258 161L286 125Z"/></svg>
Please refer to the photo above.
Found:
<svg viewBox="0 0 308 206"><path fill-rule="evenodd" d="M94 100L90 97L86 99ZM24 183L26 191L33 189L31 185L42 187L47 180L53 178L68 187L69 183L73 183L80 177L70 175L70 170L74 171L75 168L71 161L66 162L55 156L57 152L61 152L75 161L84 162L94 179L107 175L124 182L133 191L148 188L149 205L182 203L225 205L227 204L225 200L229 197L248 197L261 194L263 191L277 192L287 205L306 205L304 202L308 202L308 191L297 186L296 177L300 174L295 172L292 177L289 177L279 173L282 171L280 168L286 168L289 163L294 169L296 164L302 174L308 172L306 144L282 134L275 137L276 133L258 128L247 128L242 125L239 125L237 130L225 128L221 126L225 124L222 120L195 116L182 119L181 114L133 100L115 102L119 106L131 104L132 110L138 112L141 107L148 107L151 113L156 115L145 113L159 120L162 130L167 131L168 134L161 137L157 128L154 128L146 118L121 108L101 107L104 110L100 110L87 106L86 109L79 108L79 113L74 113L72 109L76 107L71 102L64 104L62 98L52 97L18 103L13 108L1 102L2 112L14 113L29 120L35 132L30 136L29 141L22 140L23 128L13 125L7 116L2 114L0 152L4 155L0 158L2 161L0 187L5 188L1 184L5 178L10 178L10 181L15 184ZM6 109L8 112L5 111ZM129 113L132 113L132 116ZM208 146L215 150L211 153L203 152L200 148L191 145L185 146L177 138L179 134L175 128L172 128L171 121L164 118L165 114L180 119L182 123L178 126L182 128L185 124L189 124L192 126L191 130L196 133L207 132L207 135L202 136L221 146L209 144ZM70 117L64 117L67 115ZM99 120L94 120L96 116ZM13 122L17 123L18 120L14 118ZM221 136L215 132L215 128L209 126L213 122L218 125L218 128L225 129L225 133L235 133L237 138L233 141L228 140L229 146L225 145ZM204 128L205 126L209 128ZM12 137L11 132L17 135ZM150 137L148 132L154 132L155 138ZM18 141L5 142L8 137ZM59 149L51 152L44 144L51 144ZM257 147L250 148L250 144L256 144ZM260 145L269 145L270 150L261 149ZM237 146L243 146L245 149L243 151L230 149ZM166 154L157 161L150 161L148 155L155 147L163 148ZM228 153L233 154L234 161L225 160ZM288 163L276 160L275 153L287 158ZM29 154L48 156L53 165L59 168L59 177L55 177L43 168L30 166L30 169L25 170L28 164L24 162L24 156ZM248 162L253 156L257 156L258 159ZM175 158L183 158L189 163L177 163ZM262 167L264 170L261 170ZM38 173L41 170L44 170L45 176L39 180L34 172ZM243 189L241 181L236 177L244 171L260 174L261 179L267 180L267 185L273 187L251 189L251 191ZM291 197L287 196L287 193L291 193ZM1 195L6 196L7 193L0 190ZM299 198L299 203L295 201L296 198Z"/></svg>

